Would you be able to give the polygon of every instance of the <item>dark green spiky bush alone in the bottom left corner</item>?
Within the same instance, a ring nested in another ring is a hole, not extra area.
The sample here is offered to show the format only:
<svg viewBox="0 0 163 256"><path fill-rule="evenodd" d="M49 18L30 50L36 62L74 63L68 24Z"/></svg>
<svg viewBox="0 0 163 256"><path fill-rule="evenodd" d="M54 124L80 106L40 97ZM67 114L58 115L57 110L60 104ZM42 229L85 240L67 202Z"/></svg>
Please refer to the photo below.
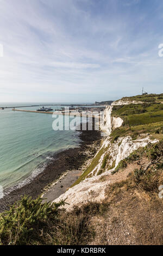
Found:
<svg viewBox="0 0 163 256"><path fill-rule="evenodd" d="M64 204L64 201L42 204L40 197L33 200L24 196L0 215L1 245L26 245L29 240L40 239L40 227L46 225L48 218L55 219L59 206Z"/></svg>

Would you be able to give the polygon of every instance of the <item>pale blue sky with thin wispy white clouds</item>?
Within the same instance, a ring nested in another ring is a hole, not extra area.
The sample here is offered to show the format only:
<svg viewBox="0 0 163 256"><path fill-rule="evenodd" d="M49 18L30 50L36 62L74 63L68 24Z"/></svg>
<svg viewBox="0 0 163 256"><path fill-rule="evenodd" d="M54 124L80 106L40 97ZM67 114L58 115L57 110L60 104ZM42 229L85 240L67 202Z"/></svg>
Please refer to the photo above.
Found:
<svg viewBox="0 0 163 256"><path fill-rule="evenodd" d="M0 0L0 102L163 93L162 0Z"/></svg>

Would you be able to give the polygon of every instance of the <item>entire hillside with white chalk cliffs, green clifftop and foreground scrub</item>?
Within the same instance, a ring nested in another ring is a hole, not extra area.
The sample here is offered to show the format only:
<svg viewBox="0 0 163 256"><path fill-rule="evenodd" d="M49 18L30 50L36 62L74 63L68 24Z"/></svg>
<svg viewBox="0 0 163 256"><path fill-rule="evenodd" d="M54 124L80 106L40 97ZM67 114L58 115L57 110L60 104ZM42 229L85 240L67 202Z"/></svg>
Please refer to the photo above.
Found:
<svg viewBox="0 0 163 256"><path fill-rule="evenodd" d="M105 137L83 174L52 205L25 198L2 214L1 243L161 245L162 95L106 107Z"/></svg>

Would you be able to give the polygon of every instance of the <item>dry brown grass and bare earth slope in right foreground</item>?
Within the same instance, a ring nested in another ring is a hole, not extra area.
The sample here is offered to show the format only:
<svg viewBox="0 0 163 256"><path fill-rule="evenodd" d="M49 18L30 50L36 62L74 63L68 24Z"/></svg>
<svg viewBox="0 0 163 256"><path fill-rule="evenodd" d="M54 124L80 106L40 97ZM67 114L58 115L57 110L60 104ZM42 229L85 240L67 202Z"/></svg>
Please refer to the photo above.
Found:
<svg viewBox="0 0 163 256"><path fill-rule="evenodd" d="M145 161L146 160L146 161ZM148 159L142 159L147 164ZM111 182L105 190L108 205L105 215L93 216L96 236L90 245L162 245L163 201L158 197L158 187L163 184L162 169L151 166L145 173L137 163L112 175L126 179ZM129 171L130 170L130 171ZM112 180L113 181L113 180Z"/></svg>

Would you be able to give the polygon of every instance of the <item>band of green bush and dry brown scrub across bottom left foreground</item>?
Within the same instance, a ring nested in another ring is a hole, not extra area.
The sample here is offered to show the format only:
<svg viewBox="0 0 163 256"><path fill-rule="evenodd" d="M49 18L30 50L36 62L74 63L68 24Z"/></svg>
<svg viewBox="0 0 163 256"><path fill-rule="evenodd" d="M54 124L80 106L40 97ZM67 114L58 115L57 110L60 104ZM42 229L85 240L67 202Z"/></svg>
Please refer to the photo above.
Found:
<svg viewBox="0 0 163 256"><path fill-rule="evenodd" d="M89 220L103 214L103 205L87 203L66 212L59 209L64 204L24 196L0 215L1 245L86 245L95 235Z"/></svg>

